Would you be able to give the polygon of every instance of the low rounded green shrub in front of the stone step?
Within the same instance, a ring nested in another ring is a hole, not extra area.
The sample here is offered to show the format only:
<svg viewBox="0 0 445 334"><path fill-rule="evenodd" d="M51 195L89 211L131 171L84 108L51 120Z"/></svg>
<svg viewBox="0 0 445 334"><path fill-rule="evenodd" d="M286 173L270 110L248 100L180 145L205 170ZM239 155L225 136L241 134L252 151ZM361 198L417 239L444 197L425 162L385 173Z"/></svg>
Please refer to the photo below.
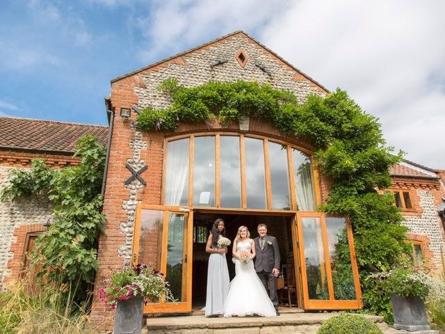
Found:
<svg viewBox="0 0 445 334"><path fill-rule="evenodd" d="M321 325L317 334L383 334L373 321L361 315L341 314Z"/></svg>

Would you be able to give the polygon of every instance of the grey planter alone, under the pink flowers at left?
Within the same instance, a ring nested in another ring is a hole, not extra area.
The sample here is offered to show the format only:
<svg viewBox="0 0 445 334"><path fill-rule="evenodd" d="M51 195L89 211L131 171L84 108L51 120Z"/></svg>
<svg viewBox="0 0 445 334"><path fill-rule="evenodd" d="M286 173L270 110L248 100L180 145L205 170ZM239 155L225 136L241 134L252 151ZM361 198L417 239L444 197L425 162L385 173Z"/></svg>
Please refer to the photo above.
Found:
<svg viewBox="0 0 445 334"><path fill-rule="evenodd" d="M116 308L113 334L140 334L143 323L143 297L120 301Z"/></svg>

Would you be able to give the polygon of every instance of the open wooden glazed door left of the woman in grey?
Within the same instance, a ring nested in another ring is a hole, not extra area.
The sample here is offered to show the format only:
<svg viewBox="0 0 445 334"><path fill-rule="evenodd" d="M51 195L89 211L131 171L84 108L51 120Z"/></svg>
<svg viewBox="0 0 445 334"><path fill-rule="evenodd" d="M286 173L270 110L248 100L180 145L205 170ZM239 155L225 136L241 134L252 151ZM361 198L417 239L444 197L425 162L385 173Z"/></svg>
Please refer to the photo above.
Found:
<svg viewBox="0 0 445 334"><path fill-rule="evenodd" d="M144 313L191 312L192 238L193 212L179 207L138 205L133 264L149 264L161 271L176 299L173 303L147 303Z"/></svg>

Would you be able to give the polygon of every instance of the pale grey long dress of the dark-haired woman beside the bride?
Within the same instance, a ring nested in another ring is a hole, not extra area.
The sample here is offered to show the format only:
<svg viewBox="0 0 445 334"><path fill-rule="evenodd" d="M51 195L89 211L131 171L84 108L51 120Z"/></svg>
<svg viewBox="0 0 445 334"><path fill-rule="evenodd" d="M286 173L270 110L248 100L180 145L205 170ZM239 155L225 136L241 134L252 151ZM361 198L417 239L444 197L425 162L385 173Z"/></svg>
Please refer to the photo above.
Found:
<svg viewBox="0 0 445 334"><path fill-rule="evenodd" d="M229 285L229 270L225 254L211 253L207 269L206 317L223 315L224 300L229 293Z"/></svg>

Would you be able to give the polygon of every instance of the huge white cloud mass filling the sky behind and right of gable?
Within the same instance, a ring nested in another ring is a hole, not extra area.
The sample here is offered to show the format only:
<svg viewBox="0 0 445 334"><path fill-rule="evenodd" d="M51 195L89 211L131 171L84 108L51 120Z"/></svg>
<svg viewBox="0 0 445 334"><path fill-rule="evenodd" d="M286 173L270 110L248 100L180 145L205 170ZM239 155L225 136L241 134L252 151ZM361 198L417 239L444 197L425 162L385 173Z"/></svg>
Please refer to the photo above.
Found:
<svg viewBox="0 0 445 334"><path fill-rule="evenodd" d="M380 118L388 145L445 168L445 2L157 2L139 26L145 63L239 29ZM209 36L209 37L207 37Z"/></svg>

